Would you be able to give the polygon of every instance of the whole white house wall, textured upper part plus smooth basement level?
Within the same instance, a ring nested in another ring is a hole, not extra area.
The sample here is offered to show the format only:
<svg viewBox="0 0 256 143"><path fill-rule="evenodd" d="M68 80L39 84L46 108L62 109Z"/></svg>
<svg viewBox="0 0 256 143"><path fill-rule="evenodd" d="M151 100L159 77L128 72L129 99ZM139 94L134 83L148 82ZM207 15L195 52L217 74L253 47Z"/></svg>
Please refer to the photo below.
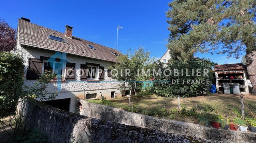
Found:
<svg viewBox="0 0 256 143"><path fill-rule="evenodd" d="M29 58L40 58L40 56L44 57L51 57L55 52L53 51L47 51L42 49L36 49L36 48L29 48L29 47L21 47L20 45L17 46L17 49L15 51L16 53L19 53L23 56L25 62L25 75L27 73L27 67ZM104 66L104 68L108 67L108 65L113 65L112 62L107 61L101 61L101 60L94 60L89 58L84 58L80 56L75 55L68 55L67 54L68 62L75 63L75 69L76 69L76 76L75 80L67 80L65 82L61 82L61 90L57 90L57 82L50 82L48 85L48 91L50 93L56 93L58 92L58 97L55 99L65 99L65 98L71 98L70 101L70 112L74 112L75 107L75 100L76 99L84 99L84 93L85 94L92 94L97 93L97 98L100 98L102 92L102 95L106 98L111 98L111 92L115 91L115 93L120 93L118 90L118 82L117 80L112 79L111 77L108 77L108 73L105 72L104 80L103 81L81 81L80 80L80 64L88 63L95 63L100 64L100 66ZM24 84L26 85L32 85L35 82L35 80L26 80L24 81ZM85 92L84 92L85 91ZM121 97L121 95L119 95Z"/></svg>

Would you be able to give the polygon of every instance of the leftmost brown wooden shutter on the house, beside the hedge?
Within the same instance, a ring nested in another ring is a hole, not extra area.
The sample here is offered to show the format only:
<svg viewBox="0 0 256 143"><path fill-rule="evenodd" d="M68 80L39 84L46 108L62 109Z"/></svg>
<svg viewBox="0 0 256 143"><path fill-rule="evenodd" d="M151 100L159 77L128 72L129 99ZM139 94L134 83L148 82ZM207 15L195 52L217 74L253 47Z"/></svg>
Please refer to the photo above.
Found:
<svg viewBox="0 0 256 143"><path fill-rule="evenodd" d="M26 79L28 80L39 79L39 77L41 77L42 75L42 70L43 70L42 59L29 58Z"/></svg>

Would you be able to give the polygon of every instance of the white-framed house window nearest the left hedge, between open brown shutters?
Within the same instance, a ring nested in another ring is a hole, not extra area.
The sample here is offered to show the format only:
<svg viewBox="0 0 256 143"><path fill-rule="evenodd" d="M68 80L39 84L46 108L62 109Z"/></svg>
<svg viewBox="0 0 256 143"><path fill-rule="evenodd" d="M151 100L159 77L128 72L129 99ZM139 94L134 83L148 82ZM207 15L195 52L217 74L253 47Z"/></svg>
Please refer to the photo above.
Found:
<svg viewBox="0 0 256 143"><path fill-rule="evenodd" d="M57 61L43 61L43 71L42 74L44 73L45 70L50 71L51 73L55 75L61 75L63 76L65 73L65 64Z"/></svg>

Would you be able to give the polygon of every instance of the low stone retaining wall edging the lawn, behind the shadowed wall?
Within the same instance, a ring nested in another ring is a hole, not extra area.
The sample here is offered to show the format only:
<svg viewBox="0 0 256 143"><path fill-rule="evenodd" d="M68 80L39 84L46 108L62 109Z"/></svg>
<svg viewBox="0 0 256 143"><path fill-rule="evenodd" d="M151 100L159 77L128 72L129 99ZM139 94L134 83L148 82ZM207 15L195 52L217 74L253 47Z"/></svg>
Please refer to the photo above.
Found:
<svg viewBox="0 0 256 143"><path fill-rule="evenodd" d="M256 142L256 133L204 127L81 101L84 115L105 121L224 142Z"/></svg>

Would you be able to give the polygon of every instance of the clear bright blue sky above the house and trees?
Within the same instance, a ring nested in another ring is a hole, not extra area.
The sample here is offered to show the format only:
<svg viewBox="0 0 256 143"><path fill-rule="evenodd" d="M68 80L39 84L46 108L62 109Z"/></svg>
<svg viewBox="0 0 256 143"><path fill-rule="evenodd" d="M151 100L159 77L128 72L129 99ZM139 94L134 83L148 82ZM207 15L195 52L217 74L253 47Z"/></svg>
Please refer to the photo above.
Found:
<svg viewBox="0 0 256 143"><path fill-rule="evenodd" d="M18 18L31 23L65 32L65 25L73 27L73 36L126 53L140 46L161 58L166 52L170 31L166 14L171 0L85 0L85 1L16 1L1 2L0 19L17 28ZM245 53L244 53L245 54ZM197 53L197 57L210 58L219 64L240 63L241 58L226 58L225 54Z"/></svg>

